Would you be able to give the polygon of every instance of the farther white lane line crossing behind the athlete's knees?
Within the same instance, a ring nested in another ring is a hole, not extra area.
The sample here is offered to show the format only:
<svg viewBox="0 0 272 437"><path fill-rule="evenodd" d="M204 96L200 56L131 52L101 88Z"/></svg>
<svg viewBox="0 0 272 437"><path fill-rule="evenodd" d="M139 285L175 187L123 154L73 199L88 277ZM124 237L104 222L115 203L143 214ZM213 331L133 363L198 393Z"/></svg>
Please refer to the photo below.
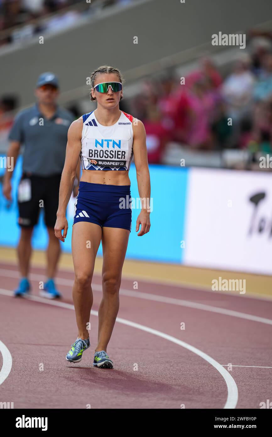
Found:
<svg viewBox="0 0 272 437"><path fill-rule="evenodd" d="M3 270L4 273L2 273L3 269L0 269L0 276L7 276L7 277L19 277L19 273L17 271L10 271L12 272L10 275L7 274L7 271ZM34 281L41 281L46 280L46 277L44 275L39 275L37 273L32 273L30 275L30 278ZM65 278L56 278L56 284L64 285L67 287L71 287L73 285L74 281L72 279L65 279ZM92 284L92 288L95 291L102 291L102 286L99 284ZM239 311L233 311L231 309L225 309L220 308L217 306L212 305L205 305L198 302L190 302L182 299L177 298L169 298L166 296L160 296L160 295L153 295L151 293L143 293L142 291L132 291L132 290L126 290L125 288L120 288L120 294L124 296L134 297L138 299L146 299L151 300L155 302L162 302L162 303L169 303L172 305L180 305L185 306L187 308L194 308L194 309L200 309L202 311L209 311L209 312L215 312L217 314L224 314L225 316L231 316L231 317L238 317L239 319L245 319L245 320L251 320L253 322L260 322L265 323L266 325L272 325L271 319L265 319L264 317L254 316L252 314L247 314L244 312Z"/></svg>

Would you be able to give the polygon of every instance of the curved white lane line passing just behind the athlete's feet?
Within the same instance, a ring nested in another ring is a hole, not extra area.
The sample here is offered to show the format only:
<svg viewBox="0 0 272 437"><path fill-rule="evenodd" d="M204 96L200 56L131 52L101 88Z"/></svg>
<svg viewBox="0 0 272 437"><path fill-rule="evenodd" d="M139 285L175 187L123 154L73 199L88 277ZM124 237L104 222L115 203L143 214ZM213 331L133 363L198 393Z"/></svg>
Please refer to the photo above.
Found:
<svg viewBox="0 0 272 437"><path fill-rule="evenodd" d="M0 288L0 294L7 295L7 296L13 296L12 291L4 290L2 288ZM72 310L75 309L74 305L72 305L72 304L65 303L65 302L51 301L51 300L47 300L45 298L40 298L38 296L28 296L27 299L32 300L34 302L45 303L47 305L63 307L66 309L72 309ZM91 314L93 316L98 316L98 311L91 310ZM191 344L185 343L184 341L181 341L176 337L172 337L171 335L165 334L164 332L157 331L156 329L149 328L148 326L145 326L145 325L140 325L139 323L131 322L130 320L121 319L120 317L117 317L116 321L118 323L122 323L123 325L131 326L132 328L140 329L142 331L145 331L145 332L148 332L150 334L156 335L158 337L164 338L165 340L172 341L172 343L176 343L179 346L182 346L182 347L190 350L194 354L203 358L203 360L210 363L220 373L220 375L224 378L224 381L226 382L226 385L227 385L227 401L224 405L224 409L234 409L236 407L237 402L238 402L238 387L236 385L236 382L234 381L234 379L232 378L230 373L226 369L224 369L224 367L221 366L221 364L219 364L217 361L215 361L212 357L205 354L205 352L203 352L202 350L197 349L196 347L192 346Z"/></svg>

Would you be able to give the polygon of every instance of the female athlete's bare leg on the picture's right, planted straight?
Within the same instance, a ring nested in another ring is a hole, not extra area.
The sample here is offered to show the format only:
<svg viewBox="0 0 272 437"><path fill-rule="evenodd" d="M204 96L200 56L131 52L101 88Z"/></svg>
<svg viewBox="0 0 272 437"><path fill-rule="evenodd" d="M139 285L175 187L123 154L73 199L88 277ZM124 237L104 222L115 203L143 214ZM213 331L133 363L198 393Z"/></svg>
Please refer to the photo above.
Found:
<svg viewBox="0 0 272 437"><path fill-rule="evenodd" d="M119 309L119 288L129 234L127 229L102 228L103 296L98 311L98 342L95 352L107 351L107 345L114 329Z"/></svg>

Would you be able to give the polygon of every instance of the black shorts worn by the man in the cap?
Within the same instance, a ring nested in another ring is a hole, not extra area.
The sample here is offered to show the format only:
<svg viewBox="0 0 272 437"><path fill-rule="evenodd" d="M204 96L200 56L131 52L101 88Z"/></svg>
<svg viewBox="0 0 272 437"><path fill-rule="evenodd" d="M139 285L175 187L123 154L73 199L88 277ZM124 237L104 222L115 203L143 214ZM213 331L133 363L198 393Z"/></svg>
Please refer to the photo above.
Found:
<svg viewBox="0 0 272 437"><path fill-rule="evenodd" d="M55 227L56 214L59 207L59 184L61 174L41 177L23 173L22 180L30 180L31 198L20 201L18 196L19 218L18 224L21 227L29 228L37 224L39 213L44 211L45 225L49 228Z"/></svg>

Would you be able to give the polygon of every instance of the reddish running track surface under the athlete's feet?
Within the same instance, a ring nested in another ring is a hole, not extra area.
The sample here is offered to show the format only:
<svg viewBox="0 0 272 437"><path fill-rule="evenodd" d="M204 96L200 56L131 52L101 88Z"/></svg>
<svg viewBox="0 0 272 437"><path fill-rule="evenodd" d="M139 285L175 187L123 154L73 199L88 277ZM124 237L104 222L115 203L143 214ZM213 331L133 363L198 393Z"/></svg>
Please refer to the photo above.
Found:
<svg viewBox="0 0 272 437"><path fill-rule="evenodd" d="M272 301L143 280L135 290L135 273L121 284L107 349L114 369L97 369L98 275L92 346L78 364L65 360L77 334L73 273L59 271L63 298L53 302L38 297L41 268L31 269L36 300L13 297L14 265L0 264L0 277L0 402L14 402L14 409L259 409L271 399Z"/></svg>

